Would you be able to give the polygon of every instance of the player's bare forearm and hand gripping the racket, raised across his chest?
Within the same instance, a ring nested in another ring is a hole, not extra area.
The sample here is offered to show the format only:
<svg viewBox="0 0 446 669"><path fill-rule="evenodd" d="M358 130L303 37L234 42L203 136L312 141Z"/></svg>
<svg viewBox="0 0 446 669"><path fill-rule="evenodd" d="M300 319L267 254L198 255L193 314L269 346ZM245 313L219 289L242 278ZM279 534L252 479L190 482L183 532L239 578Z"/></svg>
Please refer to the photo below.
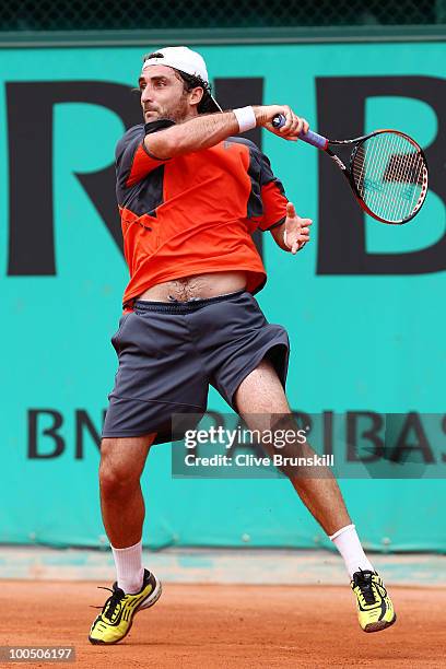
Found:
<svg viewBox="0 0 446 669"><path fill-rule="evenodd" d="M257 126L261 126L285 140L296 141L301 130L308 128L305 119L297 117L286 105L269 105L253 107L253 109ZM286 119L285 125L279 130L275 130L271 125L277 114L283 114ZM168 160L209 149L239 131L234 111L208 114L148 134L144 139L144 145L149 154L160 160Z"/></svg>

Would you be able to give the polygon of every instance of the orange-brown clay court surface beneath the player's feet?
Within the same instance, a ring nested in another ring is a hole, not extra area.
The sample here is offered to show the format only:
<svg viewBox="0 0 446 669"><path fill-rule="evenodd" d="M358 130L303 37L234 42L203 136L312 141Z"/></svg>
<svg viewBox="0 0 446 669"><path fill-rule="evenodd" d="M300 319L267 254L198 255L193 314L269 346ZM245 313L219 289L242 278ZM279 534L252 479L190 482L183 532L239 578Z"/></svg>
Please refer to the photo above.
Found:
<svg viewBox="0 0 446 669"><path fill-rule="evenodd" d="M165 584L160 601L136 617L124 642L103 647L86 638L96 614L90 605L102 605L107 596L95 583L2 580L0 587L1 645L74 646L77 661L59 666L408 669L446 664L446 588L391 588L398 622L364 634L348 587Z"/></svg>

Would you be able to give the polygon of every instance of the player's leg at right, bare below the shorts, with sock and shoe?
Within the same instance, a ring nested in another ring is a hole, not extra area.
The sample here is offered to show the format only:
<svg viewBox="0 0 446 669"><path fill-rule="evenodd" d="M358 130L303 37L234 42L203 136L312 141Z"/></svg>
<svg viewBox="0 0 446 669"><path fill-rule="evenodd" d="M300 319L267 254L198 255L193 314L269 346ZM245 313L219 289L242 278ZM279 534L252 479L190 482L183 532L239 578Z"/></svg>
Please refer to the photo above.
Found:
<svg viewBox="0 0 446 669"><path fill-rule="evenodd" d="M273 430L269 416L278 419L278 414L280 430L297 430L283 386L268 359L263 359L242 382L234 399L239 415L250 430L260 430L260 433ZM268 450L268 446L265 447ZM293 455L308 457L314 454L308 444L295 449L300 453ZM344 559L356 595L362 629L365 632L384 630L396 620L392 603L362 549L334 477L328 468L321 469L308 469L309 477L295 468L285 468L284 472Z"/></svg>

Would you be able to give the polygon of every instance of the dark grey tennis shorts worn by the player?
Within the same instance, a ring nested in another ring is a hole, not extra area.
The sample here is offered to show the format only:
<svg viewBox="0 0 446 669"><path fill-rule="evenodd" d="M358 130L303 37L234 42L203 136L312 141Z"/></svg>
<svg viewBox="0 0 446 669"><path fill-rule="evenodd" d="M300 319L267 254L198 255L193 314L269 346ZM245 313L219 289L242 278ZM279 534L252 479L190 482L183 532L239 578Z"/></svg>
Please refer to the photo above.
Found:
<svg viewBox="0 0 446 669"><path fill-rule="evenodd" d="M154 444L172 442L172 414L201 418L209 384L236 411L236 389L266 356L285 387L286 330L267 321L250 293L174 303L137 301L133 308L121 317L111 339L119 366L103 437L156 432Z"/></svg>

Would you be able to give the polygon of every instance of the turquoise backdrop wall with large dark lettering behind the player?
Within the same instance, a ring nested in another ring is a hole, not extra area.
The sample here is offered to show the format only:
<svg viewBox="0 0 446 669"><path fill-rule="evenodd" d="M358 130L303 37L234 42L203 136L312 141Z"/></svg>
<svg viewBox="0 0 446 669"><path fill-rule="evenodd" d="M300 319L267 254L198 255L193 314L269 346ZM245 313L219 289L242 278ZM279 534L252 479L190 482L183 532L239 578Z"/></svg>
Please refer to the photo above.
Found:
<svg viewBox="0 0 446 669"><path fill-rule="evenodd" d="M265 103L290 104L315 128L318 119L330 119L331 106L339 117L345 104L349 114L350 103L341 96L328 101L324 109L318 106L322 79L406 78L404 96L367 98L365 129L397 127L426 148L444 141L432 99L420 99L416 83L429 80L442 104L443 43L232 45L199 50L213 78L261 79ZM104 82L134 85L143 51L139 47L0 51L1 542L91 547L106 542L94 437L116 371L109 338L120 316L127 268L105 221L110 218L105 209L115 207L113 183L108 181L109 192L98 206L94 174L111 169L125 124L116 111L98 104L93 92ZM407 78L418 78L413 89ZM52 120L47 137L52 145L47 141L40 153L46 130L42 121L35 125L37 106L42 110L52 95L43 84L57 82L64 82L62 93L54 94L54 106L44 115ZM79 82L89 83L90 102L79 101ZM138 98L131 104L138 115ZM19 124L23 118L28 122ZM283 254L272 237L263 237L269 280L257 298L268 319L284 325L290 334L291 406L310 412L442 413L443 268L426 259L411 273L321 273L322 231L340 221L337 216L326 216L322 225L319 221L320 156L310 146L269 133L262 146L297 211L315 220L313 242L296 257ZM39 185L48 164L52 195L43 206L40 195L47 193L39 192ZM328 168L334 171L329 164ZM443 164L441 168L434 183L444 181ZM338 185L350 212L341 177ZM103 188L98 180L97 188ZM55 273L48 270L51 202ZM357 224L353 218L352 226ZM361 216L360 224L365 225L368 254L406 257L443 238L445 203L432 191L416 223L394 228L371 219L363 223ZM340 235L340 245L349 248L345 221ZM227 411L213 390L209 408ZM59 421L57 442L45 434L55 421ZM37 458L30 457L33 431ZM42 457L55 453L59 455ZM369 548L445 550L443 480L344 480L341 488ZM149 457L143 489L144 542L151 547L237 547L247 539L250 545L329 547L285 480L172 479L171 448L164 445Z"/></svg>

